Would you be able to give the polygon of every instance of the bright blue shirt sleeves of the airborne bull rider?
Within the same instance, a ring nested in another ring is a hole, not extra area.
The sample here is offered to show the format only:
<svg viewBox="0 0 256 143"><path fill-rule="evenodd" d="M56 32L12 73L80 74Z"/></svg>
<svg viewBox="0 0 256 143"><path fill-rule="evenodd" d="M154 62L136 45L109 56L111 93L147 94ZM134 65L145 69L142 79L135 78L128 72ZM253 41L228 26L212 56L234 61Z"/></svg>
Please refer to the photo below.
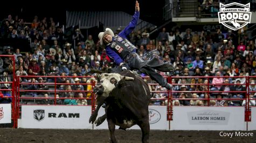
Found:
<svg viewBox="0 0 256 143"><path fill-rule="evenodd" d="M127 36L134 30L134 28L137 25L137 22L139 21L139 17L140 17L140 12L139 11L135 11L134 16L132 21L129 23L128 26L126 26L126 28L123 29L123 31L121 31L118 35L121 36L123 39L127 39ZM113 39L113 37L112 37ZM120 65L120 63L123 62L123 59L114 51L112 50L112 48L110 46L106 46L106 52L107 55L114 59L114 62L117 65Z"/></svg>

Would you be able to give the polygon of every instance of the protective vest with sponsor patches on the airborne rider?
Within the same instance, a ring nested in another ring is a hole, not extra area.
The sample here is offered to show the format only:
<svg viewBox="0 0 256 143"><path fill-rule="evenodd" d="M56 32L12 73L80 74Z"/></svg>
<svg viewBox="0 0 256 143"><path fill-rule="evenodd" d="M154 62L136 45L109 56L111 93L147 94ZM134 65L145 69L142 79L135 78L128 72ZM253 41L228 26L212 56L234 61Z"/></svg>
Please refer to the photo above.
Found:
<svg viewBox="0 0 256 143"><path fill-rule="evenodd" d="M124 59L130 52L137 50L132 43L127 39L123 39L119 35L115 35L113 41L109 45L122 59Z"/></svg>

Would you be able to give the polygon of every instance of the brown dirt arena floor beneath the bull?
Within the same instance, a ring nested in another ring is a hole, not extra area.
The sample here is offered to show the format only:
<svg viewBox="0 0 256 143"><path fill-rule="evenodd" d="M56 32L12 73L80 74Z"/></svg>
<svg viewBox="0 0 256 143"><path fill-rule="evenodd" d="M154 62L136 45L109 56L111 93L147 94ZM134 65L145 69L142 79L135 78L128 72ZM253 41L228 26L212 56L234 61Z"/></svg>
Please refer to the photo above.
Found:
<svg viewBox="0 0 256 143"><path fill-rule="evenodd" d="M235 133L235 131L224 131ZM256 142L253 137L220 137L220 131L150 131L150 142ZM140 130L116 130L117 140L141 142ZM0 129L0 142L109 142L108 130L45 130L45 129Z"/></svg>

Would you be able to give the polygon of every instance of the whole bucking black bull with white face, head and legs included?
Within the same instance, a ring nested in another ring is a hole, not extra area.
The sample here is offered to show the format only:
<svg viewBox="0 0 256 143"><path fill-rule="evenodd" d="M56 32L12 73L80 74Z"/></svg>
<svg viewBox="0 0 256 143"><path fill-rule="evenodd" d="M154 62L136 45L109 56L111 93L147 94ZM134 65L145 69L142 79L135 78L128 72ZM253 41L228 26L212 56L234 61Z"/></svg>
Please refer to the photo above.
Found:
<svg viewBox="0 0 256 143"><path fill-rule="evenodd" d="M139 125L142 131L142 142L149 142L148 105L151 94L148 84L131 71L118 73L102 73L100 84L96 89L98 106L89 119L94 123L99 108L106 103L106 114L95 122L101 124L106 118L110 132L110 142L117 142L115 125L126 130L133 125Z"/></svg>

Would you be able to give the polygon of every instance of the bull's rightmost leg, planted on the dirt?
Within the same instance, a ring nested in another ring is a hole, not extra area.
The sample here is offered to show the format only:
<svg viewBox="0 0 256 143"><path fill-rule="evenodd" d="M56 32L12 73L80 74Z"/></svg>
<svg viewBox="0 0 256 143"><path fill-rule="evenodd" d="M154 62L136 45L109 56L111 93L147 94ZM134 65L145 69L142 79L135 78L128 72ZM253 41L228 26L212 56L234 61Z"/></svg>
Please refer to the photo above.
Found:
<svg viewBox="0 0 256 143"><path fill-rule="evenodd" d="M143 119L143 121L140 122L140 124L138 124L141 128L141 132L142 132L142 142L143 143L148 143L149 142L149 130L150 130L150 126L149 126L149 118Z"/></svg>

